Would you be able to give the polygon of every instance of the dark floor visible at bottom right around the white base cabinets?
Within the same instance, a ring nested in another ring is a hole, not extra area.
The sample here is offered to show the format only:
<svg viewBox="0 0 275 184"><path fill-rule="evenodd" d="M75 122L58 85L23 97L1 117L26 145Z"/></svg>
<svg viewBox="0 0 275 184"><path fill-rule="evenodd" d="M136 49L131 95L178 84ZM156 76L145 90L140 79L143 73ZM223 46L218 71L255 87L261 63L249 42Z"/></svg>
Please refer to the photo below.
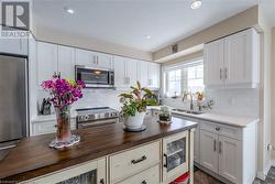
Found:
<svg viewBox="0 0 275 184"><path fill-rule="evenodd" d="M194 184L223 184L217 178L195 167ZM253 184L275 184L275 167L271 167L265 181L256 178Z"/></svg>

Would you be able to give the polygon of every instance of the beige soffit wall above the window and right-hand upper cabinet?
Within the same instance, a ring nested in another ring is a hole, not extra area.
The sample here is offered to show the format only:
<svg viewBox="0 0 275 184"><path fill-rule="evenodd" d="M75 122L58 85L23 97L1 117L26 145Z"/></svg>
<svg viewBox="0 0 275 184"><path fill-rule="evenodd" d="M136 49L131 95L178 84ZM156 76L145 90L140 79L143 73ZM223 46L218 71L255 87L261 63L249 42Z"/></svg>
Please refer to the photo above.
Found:
<svg viewBox="0 0 275 184"><path fill-rule="evenodd" d="M237 15L233 15L222 22L219 22L208 29L195 33L184 40L178 41L178 51L184 51L196 45L207 43L219 37L232 34L234 32L258 25L258 7L252 7ZM153 59L161 59L172 55L170 45L153 53Z"/></svg>

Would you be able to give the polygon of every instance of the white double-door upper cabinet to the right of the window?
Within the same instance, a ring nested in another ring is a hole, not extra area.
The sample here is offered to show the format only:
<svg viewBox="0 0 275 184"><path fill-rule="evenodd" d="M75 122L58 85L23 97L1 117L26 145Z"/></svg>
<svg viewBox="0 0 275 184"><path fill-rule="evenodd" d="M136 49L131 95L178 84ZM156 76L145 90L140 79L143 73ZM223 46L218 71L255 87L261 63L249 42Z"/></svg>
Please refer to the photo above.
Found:
<svg viewBox="0 0 275 184"><path fill-rule="evenodd" d="M258 84L260 39L254 29L205 44L205 84L233 88Z"/></svg>

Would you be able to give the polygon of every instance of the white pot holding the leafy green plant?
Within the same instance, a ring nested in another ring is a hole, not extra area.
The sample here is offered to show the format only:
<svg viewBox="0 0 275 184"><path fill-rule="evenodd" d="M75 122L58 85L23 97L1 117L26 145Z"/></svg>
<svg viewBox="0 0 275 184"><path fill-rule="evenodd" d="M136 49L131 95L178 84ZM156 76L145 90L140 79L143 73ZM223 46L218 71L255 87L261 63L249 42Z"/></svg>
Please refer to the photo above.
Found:
<svg viewBox="0 0 275 184"><path fill-rule="evenodd" d="M141 129L145 115L146 112L138 112L133 117L127 117L124 120L125 128L132 130Z"/></svg>

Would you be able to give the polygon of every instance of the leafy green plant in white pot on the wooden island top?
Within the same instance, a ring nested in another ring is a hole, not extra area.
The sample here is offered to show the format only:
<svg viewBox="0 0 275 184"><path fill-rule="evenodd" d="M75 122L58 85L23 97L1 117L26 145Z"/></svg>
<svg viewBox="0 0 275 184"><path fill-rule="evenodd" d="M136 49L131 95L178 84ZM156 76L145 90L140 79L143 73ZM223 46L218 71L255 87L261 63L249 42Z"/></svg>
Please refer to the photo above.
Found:
<svg viewBox="0 0 275 184"><path fill-rule="evenodd" d="M142 128L143 120L146 113L146 107L155 106L157 102L154 99L147 98L154 93L145 87L141 87L140 82L136 86L131 86L131 91L120 94L122 105L122 115L124 117L124 126L129 130L139 130Z"/></svg>

